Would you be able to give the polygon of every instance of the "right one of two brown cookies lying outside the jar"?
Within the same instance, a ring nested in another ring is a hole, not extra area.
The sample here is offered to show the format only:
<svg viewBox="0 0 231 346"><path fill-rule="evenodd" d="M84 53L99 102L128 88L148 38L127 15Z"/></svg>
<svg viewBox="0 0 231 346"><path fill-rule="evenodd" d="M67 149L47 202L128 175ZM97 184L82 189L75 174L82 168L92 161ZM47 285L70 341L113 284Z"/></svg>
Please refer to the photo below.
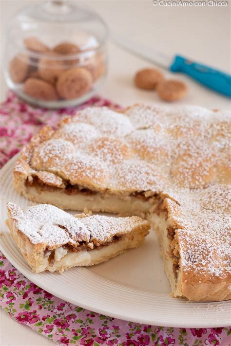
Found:
<svg viewBox="0 0 231 346"><path fill-rule="evenodd" d="M178 101L188 93L188 87L179 80L163 80L156 88L159 97L164 101Z"/></svg>

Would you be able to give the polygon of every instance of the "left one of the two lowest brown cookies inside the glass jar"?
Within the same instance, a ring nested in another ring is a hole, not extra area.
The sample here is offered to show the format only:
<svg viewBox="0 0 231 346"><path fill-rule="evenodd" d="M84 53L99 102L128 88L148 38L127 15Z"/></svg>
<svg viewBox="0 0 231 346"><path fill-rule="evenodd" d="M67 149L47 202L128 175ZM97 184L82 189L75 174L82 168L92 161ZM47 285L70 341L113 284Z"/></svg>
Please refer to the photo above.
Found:
<svg viewBox="0 0 231 346"><path fill-rule="evenodd" d="M28 78L23 85L23 91L39 100L55 101L58 99L55 87L38 78Z"/></svg>

